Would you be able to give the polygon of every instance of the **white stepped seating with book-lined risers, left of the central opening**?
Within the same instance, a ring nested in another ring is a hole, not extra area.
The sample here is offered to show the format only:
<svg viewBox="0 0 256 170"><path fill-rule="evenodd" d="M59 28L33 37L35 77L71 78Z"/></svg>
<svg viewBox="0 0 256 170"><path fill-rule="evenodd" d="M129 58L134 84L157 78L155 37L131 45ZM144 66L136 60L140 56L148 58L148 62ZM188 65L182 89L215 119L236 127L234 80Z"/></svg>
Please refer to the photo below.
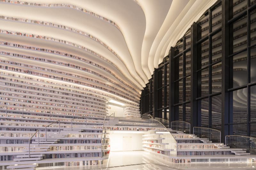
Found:
<svg viewBox="0 0 256 170"><path fill-rule="evenodd" d="M44 164L45 161L55 164L57 162L56 165L60 166L75 166L79 163L83 164L83 161L85 164L91 162L95 165L101 164L102 159L108 159L109 138L106 137L108 133L105 133L102 138L103 147L107 148L104 149L102 158L101 135L104 117L99 116L101 120L93 116L90 119L87 118L87 124L85 124L86 119L74 120L72 129L71 118L51 117L49 119L47 116L25 114L22 117L21 114L16 113L8 113L6 116L5 113L0 113L0 150L2 150L0 157L10 153L8 162L0 161L0 168L32 170L38 164ZM59 119L60 124L54 123L47 127L47 139L45 140L45 126ZM29 150L28 139L35 133L35 129L39 130L40 135L38 138L36 133L36 136L32 138ZM75 157L77 159L73 159ZM65 159L56 160L59 158Z"/></svg>

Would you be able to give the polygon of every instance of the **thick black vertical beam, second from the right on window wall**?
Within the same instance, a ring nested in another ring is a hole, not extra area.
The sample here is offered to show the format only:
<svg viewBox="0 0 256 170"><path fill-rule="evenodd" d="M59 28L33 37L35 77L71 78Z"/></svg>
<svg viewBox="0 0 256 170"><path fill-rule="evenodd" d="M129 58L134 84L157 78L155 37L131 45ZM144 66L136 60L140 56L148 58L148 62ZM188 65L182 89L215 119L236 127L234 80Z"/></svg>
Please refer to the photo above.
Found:
<svg viewBox="0 0 256 170"><path fill-rule="evenodd" d="M196 41L201 38L201 26L193 23L191 26L191 128L198 125L197 122L197 69L198 69L198 54L201 54L201 48L197 47ZM199 45L198 45L199 46ZM201 46L200 46L201 47Z"/></svg>

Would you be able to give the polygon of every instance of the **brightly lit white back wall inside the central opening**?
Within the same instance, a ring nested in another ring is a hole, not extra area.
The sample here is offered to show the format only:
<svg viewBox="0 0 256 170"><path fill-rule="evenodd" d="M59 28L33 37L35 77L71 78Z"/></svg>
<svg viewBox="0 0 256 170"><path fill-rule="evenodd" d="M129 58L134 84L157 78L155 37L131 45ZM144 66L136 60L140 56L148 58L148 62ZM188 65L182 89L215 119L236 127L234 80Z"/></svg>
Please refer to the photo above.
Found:
<svg viewBox="0 0 256 170"><path fill-rule="evenodd" d="M142 150L142 135L144 133L113 133L110 135L110 151Z"/></svg>

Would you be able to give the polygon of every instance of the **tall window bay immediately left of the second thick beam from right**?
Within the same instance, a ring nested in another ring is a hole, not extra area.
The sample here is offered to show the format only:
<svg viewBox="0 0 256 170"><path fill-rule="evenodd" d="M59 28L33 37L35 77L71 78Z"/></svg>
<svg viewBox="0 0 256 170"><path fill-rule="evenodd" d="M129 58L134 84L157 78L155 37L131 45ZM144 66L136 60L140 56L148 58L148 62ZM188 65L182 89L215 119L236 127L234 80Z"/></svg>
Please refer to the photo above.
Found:
<svg viewBox="0 0 256 170"><path fill-rule="evenodd" d="M191 95L191 32L190 29L177 42L175 48L178 55L174 56L176 91L174 107L180 121L190 122L190 95Z"/></svg>

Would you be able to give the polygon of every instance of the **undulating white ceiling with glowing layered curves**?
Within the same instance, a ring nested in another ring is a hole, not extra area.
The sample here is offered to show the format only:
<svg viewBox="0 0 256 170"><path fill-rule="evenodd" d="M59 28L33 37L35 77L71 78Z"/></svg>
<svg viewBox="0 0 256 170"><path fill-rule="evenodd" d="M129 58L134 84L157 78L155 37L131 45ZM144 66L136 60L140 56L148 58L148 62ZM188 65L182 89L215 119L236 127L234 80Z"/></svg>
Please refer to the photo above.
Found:
<svg viewBox="0 0 256 170"><path fill-rule="evenodd" d="M47 36L88 48L112 62L127 82L142 89L169 48L215 2L29 0L25 3L1 0L1 16L50 22L70 29L6 19L1 19L0 29Z"/></svg>

